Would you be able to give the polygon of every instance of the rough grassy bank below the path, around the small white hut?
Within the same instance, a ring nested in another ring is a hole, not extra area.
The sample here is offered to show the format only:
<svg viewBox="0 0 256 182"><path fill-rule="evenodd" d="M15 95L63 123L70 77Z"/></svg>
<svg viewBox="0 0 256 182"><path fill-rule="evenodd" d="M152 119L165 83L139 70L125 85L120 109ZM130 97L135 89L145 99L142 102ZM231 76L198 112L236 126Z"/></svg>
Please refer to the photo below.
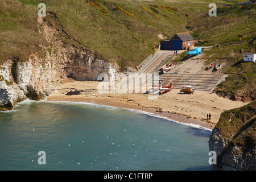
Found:
<svg viewBox="0 0 256 182"><path fill-rule="evenodd" d="M221 63L222 73L228 74L226 81L221 82L214 90L217 93L228 94L250 94L255 97L256 93L256 65L251 62L243 62L243 54L256 52L256 40L234 44L229 46L214 47L205 52L205 57L211 56L207 64L211 61ZM232 96L231 95L231 96ZM255 98L254 98L255 99Z"/></svg>

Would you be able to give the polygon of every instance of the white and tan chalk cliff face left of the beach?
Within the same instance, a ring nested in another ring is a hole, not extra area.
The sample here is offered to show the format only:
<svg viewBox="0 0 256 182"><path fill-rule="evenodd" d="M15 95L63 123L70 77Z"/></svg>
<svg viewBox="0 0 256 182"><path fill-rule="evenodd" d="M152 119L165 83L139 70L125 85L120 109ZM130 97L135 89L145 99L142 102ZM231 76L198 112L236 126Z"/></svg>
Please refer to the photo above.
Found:
<svg viewBox="0 0 256 182"><path fill-rule="evenodd" d="M114 80L118 65L97 59L92 53L74 46L64 45L57 36L64 34L38 19L39 31L51 43L38 45L42 51L31 53L27 62L11 58L0 65L0 110L11 110L26 98L44 100L55 92L63 78L97 80L100 73ZM64 46L63 46L64 45Z"/></svg>

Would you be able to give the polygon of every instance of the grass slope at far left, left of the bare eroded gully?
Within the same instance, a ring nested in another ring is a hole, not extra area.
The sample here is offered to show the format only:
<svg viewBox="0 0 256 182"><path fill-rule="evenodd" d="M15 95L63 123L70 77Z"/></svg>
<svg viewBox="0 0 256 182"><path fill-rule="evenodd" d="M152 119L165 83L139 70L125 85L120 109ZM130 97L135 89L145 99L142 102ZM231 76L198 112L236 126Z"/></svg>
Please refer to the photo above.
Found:
<svg viewBox="0 0 256 182"><path fill-rule="evenodd" d="M27 60L30 52L40 51L37 44L48 45L39 35L36 10L19 1L0 1L0 64L10 57Z"/></svg>

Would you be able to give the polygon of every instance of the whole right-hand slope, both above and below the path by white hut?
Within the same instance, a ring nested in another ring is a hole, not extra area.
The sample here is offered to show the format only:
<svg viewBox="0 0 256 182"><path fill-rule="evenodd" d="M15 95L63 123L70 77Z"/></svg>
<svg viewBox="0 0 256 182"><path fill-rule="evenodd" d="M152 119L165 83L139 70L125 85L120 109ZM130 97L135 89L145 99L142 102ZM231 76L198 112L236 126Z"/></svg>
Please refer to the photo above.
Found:
<svg viewBox="0 0 256 182"><path fill-rule="evenodd" d="M220 72L228 74L226 81L214 90L220 96L232 100L253 101L256 98L256 65L244 63L244 53L256 53L256 5L218 7L217 17L201 14L200 19L188 23L193 36L203 40L197 46L214 46L204 51L206 64L221 63ZM240 42L237 44L227 44Z"/></svg>

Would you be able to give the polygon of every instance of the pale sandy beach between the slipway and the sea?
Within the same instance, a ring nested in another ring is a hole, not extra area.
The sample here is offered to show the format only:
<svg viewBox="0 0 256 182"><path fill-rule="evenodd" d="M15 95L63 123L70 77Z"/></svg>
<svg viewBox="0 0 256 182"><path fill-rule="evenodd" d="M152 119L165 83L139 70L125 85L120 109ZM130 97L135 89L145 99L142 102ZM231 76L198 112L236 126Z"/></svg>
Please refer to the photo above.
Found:
<svg viewBox="0 0 256 182"><path fill-rule="evenodd" d="M97 81L74 81L68 78L47 101L89 102L100 105L123 107L146 111L178 122L198 125L212 130L220 114L229 109L246 105L246 102L232 101L217 94L197 91L181 94L180 89L162 94L156 100L149 100L151 94L143 93L98 93ZM211 119L207 120L207 114Z"/></svg>

